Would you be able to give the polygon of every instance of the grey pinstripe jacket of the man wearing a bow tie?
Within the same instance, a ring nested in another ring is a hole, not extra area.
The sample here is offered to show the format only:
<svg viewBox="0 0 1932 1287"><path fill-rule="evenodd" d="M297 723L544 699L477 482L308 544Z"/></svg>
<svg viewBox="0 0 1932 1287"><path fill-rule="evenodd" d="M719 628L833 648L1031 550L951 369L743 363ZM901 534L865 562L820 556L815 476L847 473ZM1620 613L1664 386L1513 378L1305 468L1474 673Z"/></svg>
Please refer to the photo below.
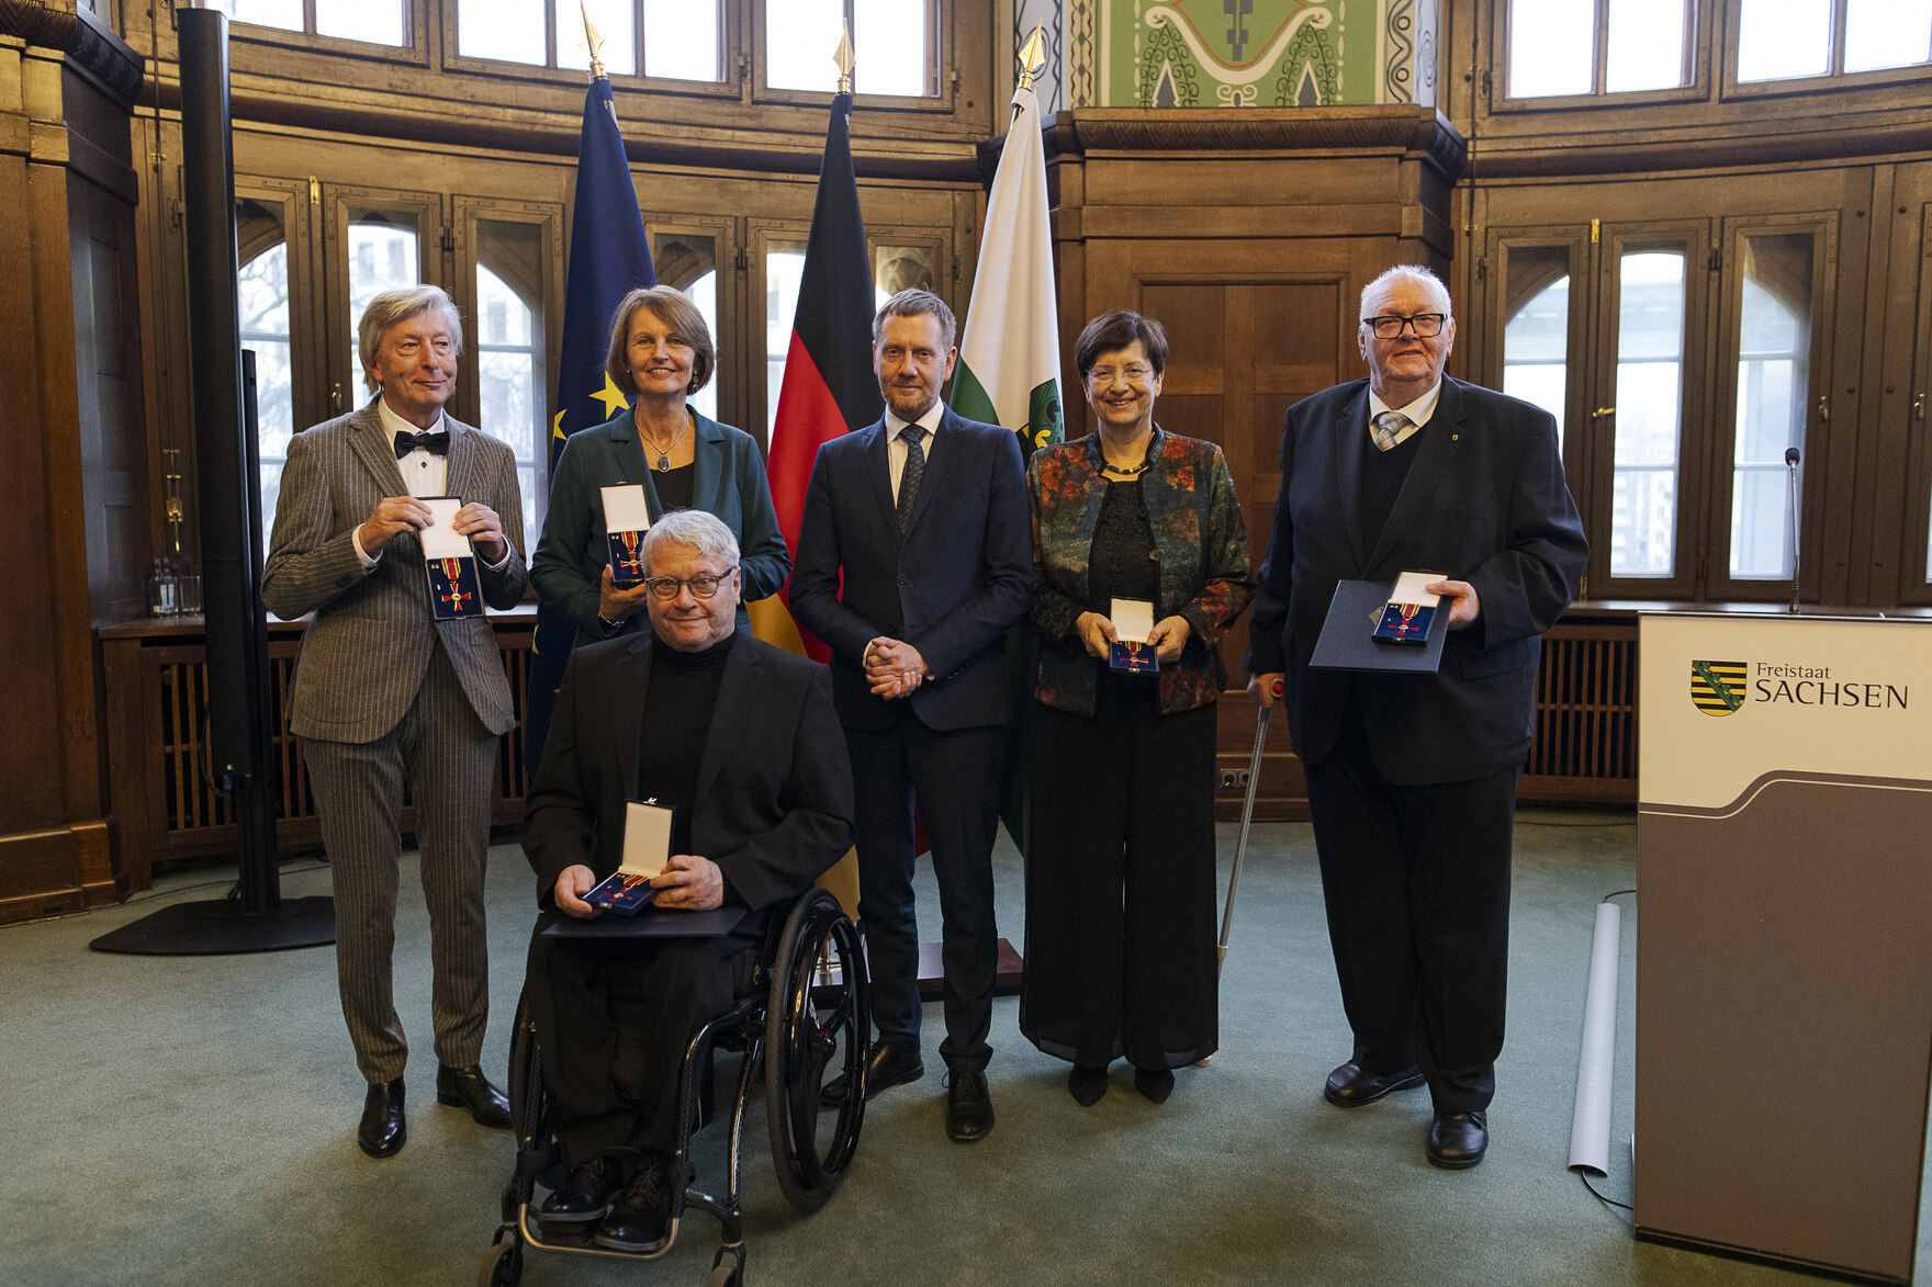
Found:
<svg viewBox="0 0 1932 1287"><path fill-rule="evenodd" d="M483 601L514 607L529 576L516 456L452 415L444 425L448 495L497 510L510 541L502 568L481 568ZM290 696L288 727L296 736L373 742L394 729L423 684L439 634L483 725L491 732L516 725L489 620L431 616L415 535L390 539L375 568L363 572L350 533L379 500L400 495L408 487L375 402L305 429L288 444L261 593L282 620L315 613Z"/></svg>

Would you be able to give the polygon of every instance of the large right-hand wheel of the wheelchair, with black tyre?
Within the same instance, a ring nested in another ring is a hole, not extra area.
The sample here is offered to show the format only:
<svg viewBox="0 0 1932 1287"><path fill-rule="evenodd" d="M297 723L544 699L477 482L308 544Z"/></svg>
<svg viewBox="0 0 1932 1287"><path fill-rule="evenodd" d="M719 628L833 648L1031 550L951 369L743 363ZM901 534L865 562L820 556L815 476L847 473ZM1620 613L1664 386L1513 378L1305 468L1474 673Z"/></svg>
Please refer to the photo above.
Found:
<svg viewBox="0 0 1932 1287"><path fill-rule="evenodd" d="M765 1125L779 1187L800 1216L825 1206L858 1148L866 1098L823 1107L835 1076L864 1084L871 1034L871 984L858 926L823 889L810 891L784 922L765 1009Z"/></svg>

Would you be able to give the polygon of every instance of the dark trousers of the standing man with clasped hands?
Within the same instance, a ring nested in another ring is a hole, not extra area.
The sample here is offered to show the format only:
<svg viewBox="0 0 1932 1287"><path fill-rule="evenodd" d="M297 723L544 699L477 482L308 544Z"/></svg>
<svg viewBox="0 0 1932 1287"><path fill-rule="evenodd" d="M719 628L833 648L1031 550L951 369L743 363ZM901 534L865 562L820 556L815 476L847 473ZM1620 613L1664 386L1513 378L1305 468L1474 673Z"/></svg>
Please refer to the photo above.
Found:
<svg viewBox="0 0 1932 1287"><path fill-rule="evenodd" d="M985 1069L993 1047L993 839L999 835L999 754L1007 729L927 729L896 707L893 729L846 729L858 812L858 914L871 964L879 1040L920 1042L920 933L912 899L912 806L918 800L939 881L947 1067Z"/></svg>

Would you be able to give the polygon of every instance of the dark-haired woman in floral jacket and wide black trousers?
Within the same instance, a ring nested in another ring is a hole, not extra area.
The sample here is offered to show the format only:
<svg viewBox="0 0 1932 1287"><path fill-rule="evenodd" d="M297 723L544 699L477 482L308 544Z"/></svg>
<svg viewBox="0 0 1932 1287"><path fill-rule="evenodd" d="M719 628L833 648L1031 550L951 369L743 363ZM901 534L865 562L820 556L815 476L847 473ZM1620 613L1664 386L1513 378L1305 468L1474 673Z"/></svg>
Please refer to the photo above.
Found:
<svg viewBox="0 0 1932 1287"><path fill-rule="evenodd" d="M1161 325L1103 313L1074 361L1099 429L1028 466L1043 642L1020 1030L1074 1065L1080 1103L1121 1057L1161 1103L1219 1042L1213 703L1254 578L1221 448L1153 423ZM1119 601L1151 605L1140 649L1119 645Z"/></svg>

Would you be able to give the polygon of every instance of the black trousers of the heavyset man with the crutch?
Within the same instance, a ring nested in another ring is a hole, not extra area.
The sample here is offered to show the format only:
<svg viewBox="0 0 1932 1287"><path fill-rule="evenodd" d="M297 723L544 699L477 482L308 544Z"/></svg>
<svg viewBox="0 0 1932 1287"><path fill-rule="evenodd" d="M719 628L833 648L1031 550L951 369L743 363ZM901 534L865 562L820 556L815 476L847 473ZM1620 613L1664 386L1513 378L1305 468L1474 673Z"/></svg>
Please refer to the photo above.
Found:
<svg viewBox="0 0 1932 1287"><path fill-rule="evenodd" d="M1335 750L1304 771L1354 1061L1420 1065L1437 1111L1486 1109L1503 1049L1517 771L1391 783L1352 698Z"/></svg>

